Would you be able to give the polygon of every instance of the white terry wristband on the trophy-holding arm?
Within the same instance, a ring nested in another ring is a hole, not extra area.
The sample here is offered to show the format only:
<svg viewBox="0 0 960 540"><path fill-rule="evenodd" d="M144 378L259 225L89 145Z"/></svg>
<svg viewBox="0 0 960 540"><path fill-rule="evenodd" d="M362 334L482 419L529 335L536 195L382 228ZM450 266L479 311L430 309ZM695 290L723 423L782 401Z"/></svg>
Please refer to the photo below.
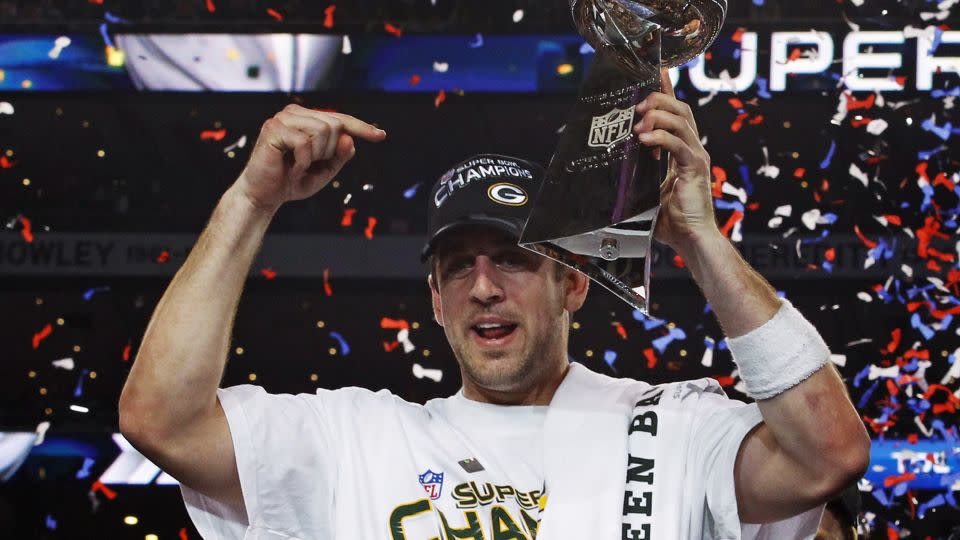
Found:
<svg viewBox="0 0 960 540"><path fill-rule="evenodd" d="M768 399L800 384L830 361L830 349L786 298L772 319L727 338L740 378L753 399Z"/></svg>

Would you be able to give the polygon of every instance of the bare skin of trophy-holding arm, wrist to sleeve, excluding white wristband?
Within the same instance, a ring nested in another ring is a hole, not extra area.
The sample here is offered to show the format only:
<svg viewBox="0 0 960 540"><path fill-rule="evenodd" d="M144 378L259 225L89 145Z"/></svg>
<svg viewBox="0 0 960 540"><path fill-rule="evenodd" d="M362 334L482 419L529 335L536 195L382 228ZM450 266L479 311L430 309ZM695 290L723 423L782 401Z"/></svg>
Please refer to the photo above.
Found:
<svg viewBox="0 0 960 540"><path fill-rule="evenodd" d="M719 231L681 251L728 337L759 328L779 309L775 290ZM763 423L744 439L734 470L743 521L765 523L799 514L827 502L865 472L870 438L829 362L757 404Z"/></svg>

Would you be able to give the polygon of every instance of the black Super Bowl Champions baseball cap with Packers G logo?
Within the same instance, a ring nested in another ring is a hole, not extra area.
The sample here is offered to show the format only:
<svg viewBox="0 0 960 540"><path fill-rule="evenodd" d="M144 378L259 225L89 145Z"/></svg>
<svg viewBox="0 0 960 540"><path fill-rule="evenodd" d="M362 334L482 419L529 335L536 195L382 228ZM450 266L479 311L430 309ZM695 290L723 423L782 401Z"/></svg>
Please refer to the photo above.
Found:
<svg viewBox="0 0 960 540"><path fill-rule="evenodd" d="M487 225L520 238L544 169L525 159L478 154L454 165L433 185L427 202L425 262L446 232L466 225Z"/></svg>

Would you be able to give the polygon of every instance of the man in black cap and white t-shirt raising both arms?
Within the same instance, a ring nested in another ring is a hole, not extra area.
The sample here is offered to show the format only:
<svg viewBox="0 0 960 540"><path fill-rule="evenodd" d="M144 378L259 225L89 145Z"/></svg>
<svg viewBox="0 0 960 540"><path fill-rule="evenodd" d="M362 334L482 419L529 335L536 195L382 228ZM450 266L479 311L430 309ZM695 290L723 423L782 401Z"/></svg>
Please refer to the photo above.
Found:
<svg viewBox="0 0 960 540"><path fill-rule="evenodd" d="M517 247L518 203L542 171L492 155L444 175L430 203L428 281L461 391L421 406L386 390L218 388L271 217L326 185L354 137L386 136L291 105L158 303L121 431L181 482L207 538L812 538L869 438L816 330L717 229L690 109L665 87L637 114L639 140L672 156L656 237L703 289L756 404L709 379L651 386L568 363L588 280ZM479 166L492 174L457 181Z"/></svg>

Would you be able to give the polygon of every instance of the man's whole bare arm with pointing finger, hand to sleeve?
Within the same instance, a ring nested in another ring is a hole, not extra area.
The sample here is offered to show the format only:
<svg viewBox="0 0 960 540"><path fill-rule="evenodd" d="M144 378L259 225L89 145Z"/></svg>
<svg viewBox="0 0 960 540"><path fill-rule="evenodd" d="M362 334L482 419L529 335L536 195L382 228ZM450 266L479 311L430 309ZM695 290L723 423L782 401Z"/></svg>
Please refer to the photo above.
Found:
<svg viewBox="0 0 960 540"><path fill-rule="evenodd" d="M322 189L386 134L351 116L290 105L267 120L250 161L154 310L120 396L120 430L180 482L243 509L217 399L243 283L279 207Z"/></svg>

